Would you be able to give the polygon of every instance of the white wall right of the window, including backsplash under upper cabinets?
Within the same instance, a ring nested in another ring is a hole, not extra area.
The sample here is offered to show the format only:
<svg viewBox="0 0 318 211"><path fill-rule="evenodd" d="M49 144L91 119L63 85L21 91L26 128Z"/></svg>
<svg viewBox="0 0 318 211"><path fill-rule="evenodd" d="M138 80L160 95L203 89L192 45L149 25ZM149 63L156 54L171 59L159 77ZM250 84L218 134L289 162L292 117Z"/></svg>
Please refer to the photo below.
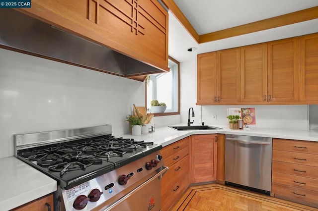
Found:
<svg viewBox="0 0 318 211"><path fill-rule="evenodd" d="M196 57L190 61L182 62L181 67L181 122L186 123L188 119L188 108L193 107L195 112L194 123L206 125L227 125L227 108L228 107L255 107L256 108L256 125L257 127L279 127L308 129L308 105L291 105L291 106L195 106L196 104L196 79L197 66ZM310 115L313 115L313 111ZM318 113L318 108L316 107ZM217 120L212 120L212 114L217 114ZM317 115L316 115L317 116ZM314 120L313 120L314 122ZM316 118L318 124L318 118ZM318 125L317 125L318 126Z"/></svg>

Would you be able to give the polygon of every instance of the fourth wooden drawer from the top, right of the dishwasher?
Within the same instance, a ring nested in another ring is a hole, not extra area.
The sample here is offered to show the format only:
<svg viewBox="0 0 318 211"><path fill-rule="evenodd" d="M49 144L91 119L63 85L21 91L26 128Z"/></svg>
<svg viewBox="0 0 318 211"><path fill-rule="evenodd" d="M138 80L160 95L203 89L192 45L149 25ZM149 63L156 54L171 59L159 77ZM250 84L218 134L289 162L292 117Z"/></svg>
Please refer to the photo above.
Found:
<svg viewBox="0 0 318 211"><path fill-rule="evenodd" d="M304 188L307 190L318 190L318 179L295 176L291 174L284 174L279 172L272 173L272 182L289 185L297 188Z"/></svg>

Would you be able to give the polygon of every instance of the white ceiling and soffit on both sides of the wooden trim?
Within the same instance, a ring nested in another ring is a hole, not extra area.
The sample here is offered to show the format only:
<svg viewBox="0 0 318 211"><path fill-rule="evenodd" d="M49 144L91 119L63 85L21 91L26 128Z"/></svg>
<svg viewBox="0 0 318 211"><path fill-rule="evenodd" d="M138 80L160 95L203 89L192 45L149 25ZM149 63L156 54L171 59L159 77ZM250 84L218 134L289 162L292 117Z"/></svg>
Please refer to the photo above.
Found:
<svg viewBox="0 0 318 211"><path fill-rule="evenodd" d="M318 6L318 0L174 0L199 35ZM203 44L169 12L169 55L180 62L197 53L279 40L318 32L318 19ZM190 47L197 51L188 52Z"/></svg>

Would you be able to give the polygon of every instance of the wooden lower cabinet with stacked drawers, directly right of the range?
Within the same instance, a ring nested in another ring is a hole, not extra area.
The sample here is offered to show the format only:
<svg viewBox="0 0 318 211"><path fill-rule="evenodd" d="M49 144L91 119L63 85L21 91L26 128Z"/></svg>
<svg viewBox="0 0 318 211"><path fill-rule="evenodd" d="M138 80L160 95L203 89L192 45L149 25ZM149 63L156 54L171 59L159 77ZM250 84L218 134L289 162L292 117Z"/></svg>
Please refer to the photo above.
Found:
<svg viewBox="0 0 318 211"><path fill-rule="evenodd" d="M168 211L190 185L189 137L161 150L168 171L161 178L161 209Z"/></svg>

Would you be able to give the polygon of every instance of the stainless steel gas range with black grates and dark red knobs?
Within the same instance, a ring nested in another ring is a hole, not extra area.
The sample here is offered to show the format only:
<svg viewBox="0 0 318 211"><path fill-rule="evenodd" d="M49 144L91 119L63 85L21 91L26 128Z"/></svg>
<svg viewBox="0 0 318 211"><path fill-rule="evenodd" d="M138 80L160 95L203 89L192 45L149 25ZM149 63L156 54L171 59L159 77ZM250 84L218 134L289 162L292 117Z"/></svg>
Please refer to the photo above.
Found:
<svg viewBox="0 0 318 211"><path fill-rule="evenodd" d="M160 211L161 145L111 125L14 135L15 156L58 182L55 211Z"/></svg>

